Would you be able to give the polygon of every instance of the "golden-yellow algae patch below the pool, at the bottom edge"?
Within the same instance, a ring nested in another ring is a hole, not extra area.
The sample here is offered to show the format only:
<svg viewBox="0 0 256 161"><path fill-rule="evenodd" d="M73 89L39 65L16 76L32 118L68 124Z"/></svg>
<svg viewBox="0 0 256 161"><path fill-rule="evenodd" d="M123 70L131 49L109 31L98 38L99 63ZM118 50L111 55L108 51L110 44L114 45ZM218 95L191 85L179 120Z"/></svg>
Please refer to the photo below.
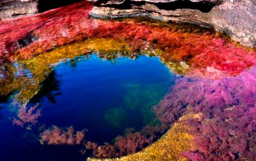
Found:
<svg viewBox="0 0 256 161"><path fill-rule="evenodd" d="M87 161L186 161L180 153L190 149L192 135L182 123L174 123L166 134L141 152L113 159L87 158Z"/></svg>

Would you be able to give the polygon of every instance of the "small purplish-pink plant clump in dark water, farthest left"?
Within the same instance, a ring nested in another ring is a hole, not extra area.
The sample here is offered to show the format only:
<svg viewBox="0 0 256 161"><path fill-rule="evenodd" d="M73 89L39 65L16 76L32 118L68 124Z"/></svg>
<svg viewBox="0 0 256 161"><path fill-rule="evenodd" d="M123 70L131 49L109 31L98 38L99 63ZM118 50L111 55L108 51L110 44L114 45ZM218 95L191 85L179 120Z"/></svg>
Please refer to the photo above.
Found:
<svg viewBox="0 0 256 161"><path fill-rule="evenodd" d="M18 125L23 127L24 124L36 124L38 122L38 117L41 116L41 109L37 109L39 104L30 107L30 109L27 110L26 106L22 106L19 109L18 112L18 119L14 118L12 120L12 124Z"/></svg>

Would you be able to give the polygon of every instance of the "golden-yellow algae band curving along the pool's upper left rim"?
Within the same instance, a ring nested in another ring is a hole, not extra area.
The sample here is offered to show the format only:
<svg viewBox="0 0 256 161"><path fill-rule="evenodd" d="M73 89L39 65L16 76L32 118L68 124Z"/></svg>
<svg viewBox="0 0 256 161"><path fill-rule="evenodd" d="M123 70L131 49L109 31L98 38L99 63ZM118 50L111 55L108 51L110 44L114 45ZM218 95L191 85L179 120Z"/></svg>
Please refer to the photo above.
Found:
<svg viewBox="0 0 256 161"><path fill-rule="evenodd" d="M105 55L111 55L111 52L114 51L128 53L129 49L126 42L104 38L89 39L57 47L33 58L19 60L16 62L19 68L13 67L13 64L7 65L8 77L0 80L0 95L8 95L18 91L13 98L16 101L19 100L19 104L24 105L39 91L41 82L45 80L54 66L63 60L74 59L76 56L83 54L88 55L91 51L99 51L99 55L104 57ZM15 76L15 72L19 70L28 72L30 76Z"/></svg>

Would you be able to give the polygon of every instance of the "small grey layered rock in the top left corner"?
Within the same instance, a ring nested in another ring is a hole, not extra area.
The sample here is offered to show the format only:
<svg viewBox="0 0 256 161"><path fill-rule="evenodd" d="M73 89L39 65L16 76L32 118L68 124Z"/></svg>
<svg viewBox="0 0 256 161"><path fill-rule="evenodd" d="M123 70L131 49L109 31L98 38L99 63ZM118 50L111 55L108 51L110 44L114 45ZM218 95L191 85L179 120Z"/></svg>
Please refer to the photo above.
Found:
<svg viewBox="0 0 256 161"><path fill-rule="evenodd" d="M38 12L38 0L0 0L0 20Z"/></svg>

